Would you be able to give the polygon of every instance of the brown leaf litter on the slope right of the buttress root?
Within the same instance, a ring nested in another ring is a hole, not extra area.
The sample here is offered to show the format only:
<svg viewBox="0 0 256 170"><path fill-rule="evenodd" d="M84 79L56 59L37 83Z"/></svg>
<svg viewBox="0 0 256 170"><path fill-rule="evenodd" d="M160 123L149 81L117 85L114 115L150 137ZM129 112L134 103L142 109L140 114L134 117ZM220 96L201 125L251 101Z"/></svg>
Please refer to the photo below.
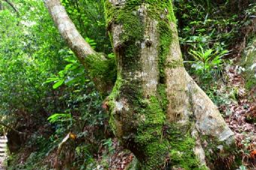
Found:
<svg viewBox="0 0 256 170"><path fill-rule="evenodd" d="M228 112L225 121L236 136L236 145L242 155L242 165L256 169L256 98L255 88L245 90L245 80L239 67L227 67L227 85L237 89L236 100L229 105L220 106L221 112Z"/></svg>

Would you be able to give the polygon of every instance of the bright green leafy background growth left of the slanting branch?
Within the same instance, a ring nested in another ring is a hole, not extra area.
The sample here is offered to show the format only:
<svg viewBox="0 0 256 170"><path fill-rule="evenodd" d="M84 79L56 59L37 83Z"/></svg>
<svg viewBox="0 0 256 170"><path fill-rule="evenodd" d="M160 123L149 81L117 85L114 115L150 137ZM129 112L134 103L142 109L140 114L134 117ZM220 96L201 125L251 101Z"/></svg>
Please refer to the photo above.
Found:
<svg viewBox="0 0 256 170"><path fill-rule="evenodd" d="M95 134L99 132L96 135L99 138L87 142L92 146L90 151L97 150L107 117L101 109L102 97L74 53L56 36L58 32L43 2L12 2L21 16L4 2L5 10L0 11L0 114L2 121L11 127L8 132L11 153L20 148L36 152L42 147L42 153L47 154L66 133L71 130L81 133L89 125L95 128ZM85 25L90 25L90 21ZM97 42L105 35L100 34ZM95 41L84 38L95 46ZM108 45L104 48L108 49ZM50 124L47 118L54 114L70 116L58 117ZM90 134L83 134L83 138ZM40 157L40 153L34 157Z"/></svg>

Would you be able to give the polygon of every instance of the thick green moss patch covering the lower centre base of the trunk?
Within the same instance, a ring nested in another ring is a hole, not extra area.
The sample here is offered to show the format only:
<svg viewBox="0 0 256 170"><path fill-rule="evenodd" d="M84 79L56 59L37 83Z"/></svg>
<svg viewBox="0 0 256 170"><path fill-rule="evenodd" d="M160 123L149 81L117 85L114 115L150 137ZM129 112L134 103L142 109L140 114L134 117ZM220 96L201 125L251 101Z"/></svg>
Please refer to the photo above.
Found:
<svg viewBox="0 0 256 170"><path fill-rule="evenodd" d="M181 127L179 124L167 126L162 108L165 106L160 104L157 97L150 97L143 103L148 104L145 109L141 109L142 121L136 134L136 143L146 156L142 161L142 169L160 169L163 166L186 170L206 169L205 166L200 166L199 160L194 155L195 139L190 136L190 126Z"/></svg>

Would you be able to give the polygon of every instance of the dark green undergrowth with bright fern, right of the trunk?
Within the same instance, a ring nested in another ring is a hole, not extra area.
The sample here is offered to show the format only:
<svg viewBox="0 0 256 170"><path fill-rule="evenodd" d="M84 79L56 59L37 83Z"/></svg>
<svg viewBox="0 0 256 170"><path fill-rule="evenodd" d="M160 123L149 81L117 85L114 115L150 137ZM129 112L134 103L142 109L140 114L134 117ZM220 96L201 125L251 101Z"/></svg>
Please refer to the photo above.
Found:
<svg viewBox="0 0 256 170"><path fill-rule="evenodd" d="M184 66L205 91L212 91L211 88L223 79L222 71L229 63L227 58L239 52L239 49L229 49L248 34L244 28L251 24L249 18L253 15L254 5L249 7L249 1L246 1L239 10L234 10L239 3L174 1Z"/></svg>

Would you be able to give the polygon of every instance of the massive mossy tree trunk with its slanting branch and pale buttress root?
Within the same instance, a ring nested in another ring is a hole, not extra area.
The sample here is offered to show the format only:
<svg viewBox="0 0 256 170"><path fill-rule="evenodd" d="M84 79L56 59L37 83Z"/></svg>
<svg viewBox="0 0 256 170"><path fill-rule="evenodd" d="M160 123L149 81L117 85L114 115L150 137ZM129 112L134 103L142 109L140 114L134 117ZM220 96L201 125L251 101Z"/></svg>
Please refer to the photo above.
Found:
<svg viewBox="0 0 256 170"><path fill-rule="evenodd" d="M45 4L92 79L102 79L93 70L101 57L81 40L59 1ZM117 61L105 105L115 136L136 155L138 169L214 169L214 160L230 152L233 133L184 70L172 2L105 0L105 15Z"/></svg>

